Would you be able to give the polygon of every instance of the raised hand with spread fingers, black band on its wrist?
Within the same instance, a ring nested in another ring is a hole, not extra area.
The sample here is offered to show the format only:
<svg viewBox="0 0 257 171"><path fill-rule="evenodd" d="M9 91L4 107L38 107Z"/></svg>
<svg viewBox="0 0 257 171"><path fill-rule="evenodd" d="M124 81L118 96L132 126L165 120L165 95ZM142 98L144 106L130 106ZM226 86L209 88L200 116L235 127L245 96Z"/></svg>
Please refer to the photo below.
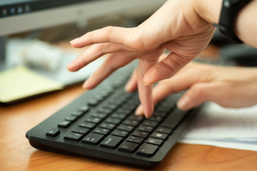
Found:
<svg viewBox="0 0 257 171"><path fill-rule="evenodd" d="M213 36L213 24L201 18L196 10L197 4L195 0L168 0L136 28L109 26L76 38L71 41L75 48L90 47L69 64L69 71L78 71L97 58L109 54L106 61L84 83L84 88L91 89L116 69L139 58L136 71L139 98L146 117L149 117L153 112L151 85L174 76L206 48ZM159 61L165 49L171 53Z"/></svg>

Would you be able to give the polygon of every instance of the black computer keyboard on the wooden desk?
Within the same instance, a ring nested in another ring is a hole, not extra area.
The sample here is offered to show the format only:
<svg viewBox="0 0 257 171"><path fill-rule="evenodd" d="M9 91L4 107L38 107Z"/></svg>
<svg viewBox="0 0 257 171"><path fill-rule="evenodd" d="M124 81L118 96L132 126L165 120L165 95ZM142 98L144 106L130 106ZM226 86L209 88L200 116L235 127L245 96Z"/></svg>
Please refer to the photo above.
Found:
<svg viewBox="0 0 257 171"><path fill-rule="evenodd" d="M134 114L138 93L126 93L131 68L109 77L26 133L33 147L151 168L176 144L198 108L181 111L182 93L162 100L151 118Z"/></svg>

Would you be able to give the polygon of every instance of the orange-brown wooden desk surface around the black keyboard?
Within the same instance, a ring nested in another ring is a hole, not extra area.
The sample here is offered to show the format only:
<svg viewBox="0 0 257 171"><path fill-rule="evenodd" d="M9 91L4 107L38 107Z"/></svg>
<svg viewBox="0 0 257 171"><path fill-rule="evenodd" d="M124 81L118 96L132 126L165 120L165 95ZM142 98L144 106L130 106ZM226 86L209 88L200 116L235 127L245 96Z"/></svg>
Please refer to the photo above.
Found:
<svg viewBox="0 0 257 171"><path fill-rule="evenodd" d="M0 170L140 170L89 158L36 150L25 138L27 130L64 107L83 90L61 90L10 106L0 106ZM257 170L257 152L178 143L154 170Z"/></svg>

